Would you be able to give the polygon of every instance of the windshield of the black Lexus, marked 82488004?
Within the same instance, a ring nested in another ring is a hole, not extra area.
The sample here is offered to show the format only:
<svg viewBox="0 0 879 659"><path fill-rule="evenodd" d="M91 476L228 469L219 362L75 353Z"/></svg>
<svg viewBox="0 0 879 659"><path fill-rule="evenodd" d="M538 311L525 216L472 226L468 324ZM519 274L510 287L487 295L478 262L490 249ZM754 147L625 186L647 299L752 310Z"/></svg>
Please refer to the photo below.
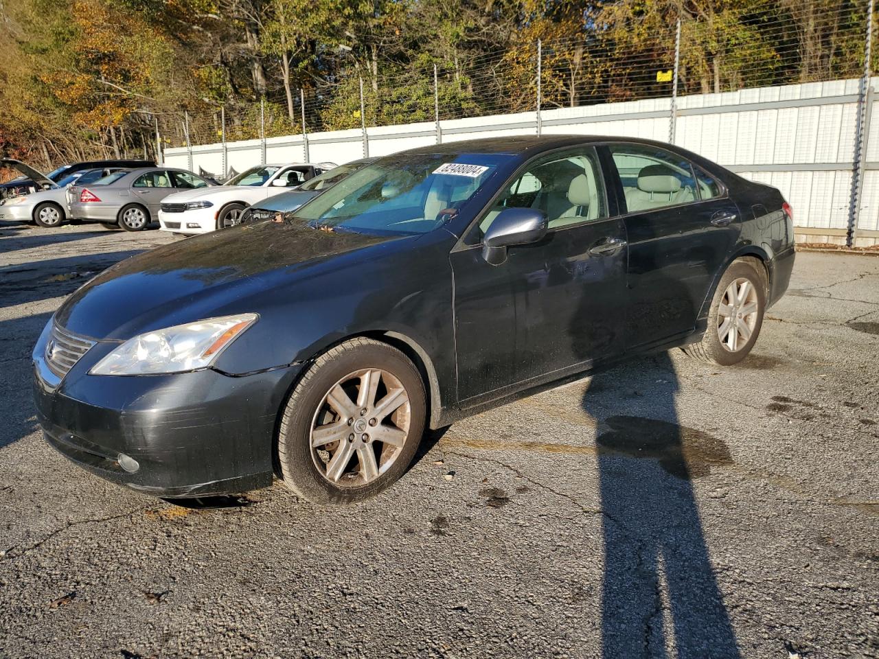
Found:
<svg viewBox="0 0 879 659"><path fill-rule="evenodd" d="M310 226L423 234L448 221L512 156L400 154L345 177L294 211Z"/></svg>

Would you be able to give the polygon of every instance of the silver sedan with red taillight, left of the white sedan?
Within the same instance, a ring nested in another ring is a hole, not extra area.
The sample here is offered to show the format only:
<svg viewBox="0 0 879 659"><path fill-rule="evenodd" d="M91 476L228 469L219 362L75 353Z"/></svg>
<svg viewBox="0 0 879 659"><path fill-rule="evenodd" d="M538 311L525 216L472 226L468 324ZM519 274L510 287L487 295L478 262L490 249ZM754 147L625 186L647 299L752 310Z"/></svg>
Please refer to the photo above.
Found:
<svg viewBox="0 0 879 659"><path fill-rule="evenodd" d="M99 179L91 187L69 187L68 214L75 220L142 231L158 218L162 199L169 194L208 185L214 184L191 171L170 167L118 171Z"/></svg>

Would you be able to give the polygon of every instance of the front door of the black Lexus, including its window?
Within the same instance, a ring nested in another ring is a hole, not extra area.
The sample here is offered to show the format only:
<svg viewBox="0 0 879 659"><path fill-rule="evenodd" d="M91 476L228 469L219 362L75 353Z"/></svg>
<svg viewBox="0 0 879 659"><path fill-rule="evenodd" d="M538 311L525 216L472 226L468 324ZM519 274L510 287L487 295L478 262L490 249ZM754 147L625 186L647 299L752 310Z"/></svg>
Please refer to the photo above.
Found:
<svg viewBox="0 0 879 659"><path fill-rule="evenodd" d="M458 395L466 407L622 351L627 246L608 219L591 147L543 156L510 185L474 230L509 207L540 209L548 234L491 265L479 245L452 253Z"/></svg>

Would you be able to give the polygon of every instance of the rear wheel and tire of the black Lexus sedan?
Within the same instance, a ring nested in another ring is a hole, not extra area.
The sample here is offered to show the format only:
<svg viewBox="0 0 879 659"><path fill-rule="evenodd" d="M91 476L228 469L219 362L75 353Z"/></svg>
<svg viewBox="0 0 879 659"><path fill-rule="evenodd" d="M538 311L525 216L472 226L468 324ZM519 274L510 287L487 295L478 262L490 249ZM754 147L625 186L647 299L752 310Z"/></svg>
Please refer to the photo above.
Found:
<svg viewBox="0 0 879 659"><path fill-rule="evenodd" d="M730 264L718 282L711 301L705 336L699 343L685 345L683 351L690 357L719 366L732 366L747 357L763 326L766 283L766 270L758 261L748 258ZM732 288L733 284L736 285L735 289ZM739 301L730 308L727 302L734 290ZM753 311L749 313L750 309ZM728 326L725 323L730 318Z"/></svg>

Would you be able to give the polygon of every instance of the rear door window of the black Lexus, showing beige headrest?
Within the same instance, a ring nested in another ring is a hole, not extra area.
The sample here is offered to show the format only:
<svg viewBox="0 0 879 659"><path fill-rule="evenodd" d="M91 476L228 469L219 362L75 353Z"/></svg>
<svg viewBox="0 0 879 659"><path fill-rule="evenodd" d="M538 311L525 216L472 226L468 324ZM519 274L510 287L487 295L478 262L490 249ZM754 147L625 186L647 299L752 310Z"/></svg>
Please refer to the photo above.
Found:
<svg viewBox="0 0 879 659"><path fill-rule="evenodd" d="M611 144L629 213L679 206L699 199L689 161L661 148Z"/></svg>

